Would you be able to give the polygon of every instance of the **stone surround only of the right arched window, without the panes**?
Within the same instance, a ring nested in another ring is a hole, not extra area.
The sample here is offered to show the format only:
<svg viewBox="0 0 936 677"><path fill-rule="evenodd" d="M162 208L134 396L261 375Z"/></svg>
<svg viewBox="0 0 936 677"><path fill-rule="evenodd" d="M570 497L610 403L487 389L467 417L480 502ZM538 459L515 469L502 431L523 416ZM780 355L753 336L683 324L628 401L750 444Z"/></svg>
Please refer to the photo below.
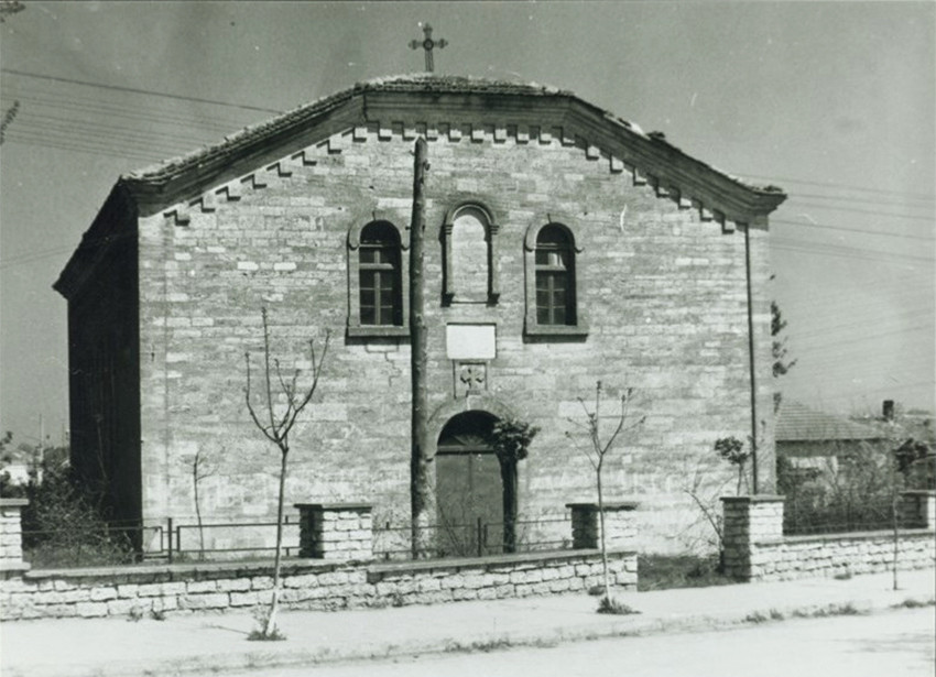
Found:
<svg viewBox="0 0 936 677"><path fill-rule="evenodd" d="M572 265L569 271L570 290L573 292L575 324L573 325L541 325L536 317L536 240L540 231L547 226L562 228L569 239L572 250ZM540 220L526 229L523 241L523 264L525 272L526 313L524 323L524 335L529 337L544 338L584 338L588 336L588 321L585 308L581 304L581 256L584 248L579 244L581 238L578 228L568 218L556 218L548 215L546 219Z"/></svg>

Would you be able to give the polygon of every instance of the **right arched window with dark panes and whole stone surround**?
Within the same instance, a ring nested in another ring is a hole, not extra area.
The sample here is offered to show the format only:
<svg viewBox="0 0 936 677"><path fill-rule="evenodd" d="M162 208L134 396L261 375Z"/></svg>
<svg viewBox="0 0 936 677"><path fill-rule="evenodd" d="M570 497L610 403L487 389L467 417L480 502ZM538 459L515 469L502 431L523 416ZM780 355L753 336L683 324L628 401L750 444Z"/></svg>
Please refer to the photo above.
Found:
<svg viewBox="0 0 936 677"><path fill-rule="evenodd" d="M588 336L579 305L579 240L575 225L552 218L526 230L524 335L531 340L581 340Z"/></svg>

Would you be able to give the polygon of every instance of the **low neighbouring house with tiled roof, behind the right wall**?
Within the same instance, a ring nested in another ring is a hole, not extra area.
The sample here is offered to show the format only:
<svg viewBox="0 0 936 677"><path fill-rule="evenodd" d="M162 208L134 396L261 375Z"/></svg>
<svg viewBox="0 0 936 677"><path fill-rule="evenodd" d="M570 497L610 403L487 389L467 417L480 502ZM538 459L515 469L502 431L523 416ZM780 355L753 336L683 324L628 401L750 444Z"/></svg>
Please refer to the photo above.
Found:
<svg viewBox="0 0 936 677"><path fill-rule="evenodd" d="M886 434L873 426L785 398L776 415L776 455L801 470L835 471L841 458L885 440Z"/></svg>

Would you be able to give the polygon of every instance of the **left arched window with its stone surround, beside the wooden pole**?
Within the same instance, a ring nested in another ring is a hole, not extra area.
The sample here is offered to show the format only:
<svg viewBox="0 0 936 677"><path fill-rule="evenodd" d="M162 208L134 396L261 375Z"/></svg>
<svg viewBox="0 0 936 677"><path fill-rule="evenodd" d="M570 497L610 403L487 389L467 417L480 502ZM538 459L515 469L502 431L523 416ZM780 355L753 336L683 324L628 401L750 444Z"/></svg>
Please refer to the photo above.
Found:
<svg viewBox="0 0 936 677"><path fill-rule="evenodd" d="M348 336L407 336L407 242L392 222L376 219L348 231Z"/></svg>

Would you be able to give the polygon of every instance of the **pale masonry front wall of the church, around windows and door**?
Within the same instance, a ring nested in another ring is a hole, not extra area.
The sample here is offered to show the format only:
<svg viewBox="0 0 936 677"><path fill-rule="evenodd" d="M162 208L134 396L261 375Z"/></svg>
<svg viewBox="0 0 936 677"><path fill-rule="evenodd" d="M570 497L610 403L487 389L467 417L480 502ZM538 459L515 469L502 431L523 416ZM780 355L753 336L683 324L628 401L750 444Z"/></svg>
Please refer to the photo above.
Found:
<svg viewBox="0 0 936 677"><path fill-rule="evenodd" d="M250 350L259 368L265 305L273 350L287 370L308 367L306 339L320 342L333 332L319 393L292 437L287 504L364 501L374 505L376 523L407 524L409 340L347 339L344 328L348 231L374 215L405 230L412 146L395 128L349 130L306 149L289 167L208 194L187 223L163 215L140 219L148 521L194 516L191 460L199 449L221 461L199 487L208 520L275 513L279 457L243 405L243 353ZM646 415L646 423L609 458L606 493L640 496L643 549L682 548L681 536L698 517L684 484L694 471L712 481L730 473L711 445L750 428L743 232L703 220L698 209L657 195L562 133L442 133L429 142L428 159L429 408L454 403L446 323L496 323L486 394L541 428L520 463L519 517L530 520L562 516L566 502L594 499L591 466L565 436L576 430L567 419L581 416L578 397L588 400L599 379L610 397L635 387L634 415ZM501 294L492 307L442 304L438 233L446 210L467 197L498 215ZM551 215L580 233L578 304L590 327L584 342L523 337L523 239ZM761 415L771 439L766 238L755 223ZM438 429L444 423L435 422ZM772 466L771 454L762 450L764 467Z"/></svg>

